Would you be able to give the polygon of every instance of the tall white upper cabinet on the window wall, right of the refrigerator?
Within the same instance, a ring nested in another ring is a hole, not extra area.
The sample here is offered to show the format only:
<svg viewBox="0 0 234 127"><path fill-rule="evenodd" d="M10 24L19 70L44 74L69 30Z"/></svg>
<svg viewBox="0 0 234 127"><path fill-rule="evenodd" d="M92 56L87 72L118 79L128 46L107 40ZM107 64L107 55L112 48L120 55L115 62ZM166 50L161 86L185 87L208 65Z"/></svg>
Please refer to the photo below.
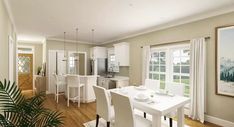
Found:
<svg viewBox="0 0 234 127"><path fill-rule="evenodd" d="M114 52L118 66L129 66L129 43L114 44Z"/></svg>

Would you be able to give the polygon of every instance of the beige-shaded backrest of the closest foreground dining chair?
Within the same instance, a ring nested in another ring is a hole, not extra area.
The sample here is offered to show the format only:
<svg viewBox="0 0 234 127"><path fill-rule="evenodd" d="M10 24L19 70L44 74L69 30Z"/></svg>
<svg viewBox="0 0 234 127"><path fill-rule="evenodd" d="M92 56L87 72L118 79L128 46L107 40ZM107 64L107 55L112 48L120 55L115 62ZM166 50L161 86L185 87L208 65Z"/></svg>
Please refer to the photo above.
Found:
<svg viewBox="0 0 234 127"><path fill-rule="evenodd" d="M111 92L115 111L115 127L135 127L133 106L127 96Z"/></svg>

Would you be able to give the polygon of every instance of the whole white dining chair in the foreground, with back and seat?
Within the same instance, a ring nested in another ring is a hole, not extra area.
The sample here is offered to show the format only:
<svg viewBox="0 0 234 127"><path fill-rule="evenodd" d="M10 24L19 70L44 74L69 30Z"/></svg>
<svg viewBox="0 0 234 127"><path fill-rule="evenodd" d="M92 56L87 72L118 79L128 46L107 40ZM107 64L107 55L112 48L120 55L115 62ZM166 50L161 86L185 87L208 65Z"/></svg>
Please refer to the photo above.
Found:
<svg viewBox="0 0 234 127"><path fill-rule="evenodd" d="M114 127L151 127L152 122L134 115L133 106L127 96L111 92L115 111Z"/></svg>

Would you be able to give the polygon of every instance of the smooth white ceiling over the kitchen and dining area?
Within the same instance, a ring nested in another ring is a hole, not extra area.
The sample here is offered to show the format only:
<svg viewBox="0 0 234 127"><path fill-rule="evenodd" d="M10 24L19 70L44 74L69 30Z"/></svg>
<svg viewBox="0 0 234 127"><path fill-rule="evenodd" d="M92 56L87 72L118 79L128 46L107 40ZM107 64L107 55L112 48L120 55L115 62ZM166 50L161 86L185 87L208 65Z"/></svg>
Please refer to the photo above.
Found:
<svg viewBox="0 0 234 127"><path fill-rule="evenodd" d="M7 0L21 40L43 38L95 43L152 31L180 19L233 11L234 0ZM227 11L225 11L227 10Z"/></svg>

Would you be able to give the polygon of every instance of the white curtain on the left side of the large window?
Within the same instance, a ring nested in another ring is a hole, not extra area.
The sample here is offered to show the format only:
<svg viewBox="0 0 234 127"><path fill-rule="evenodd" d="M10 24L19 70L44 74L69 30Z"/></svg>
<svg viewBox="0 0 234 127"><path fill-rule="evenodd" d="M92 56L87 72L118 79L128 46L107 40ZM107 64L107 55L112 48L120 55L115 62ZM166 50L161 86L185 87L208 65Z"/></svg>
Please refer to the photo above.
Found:
<svg viewBox="0 0 234 127"><path fill-rule="evenodd" d="M145 84L145 79L149 78L149 61L150 61L150 46L142 48L142 84Z"/></svg>

